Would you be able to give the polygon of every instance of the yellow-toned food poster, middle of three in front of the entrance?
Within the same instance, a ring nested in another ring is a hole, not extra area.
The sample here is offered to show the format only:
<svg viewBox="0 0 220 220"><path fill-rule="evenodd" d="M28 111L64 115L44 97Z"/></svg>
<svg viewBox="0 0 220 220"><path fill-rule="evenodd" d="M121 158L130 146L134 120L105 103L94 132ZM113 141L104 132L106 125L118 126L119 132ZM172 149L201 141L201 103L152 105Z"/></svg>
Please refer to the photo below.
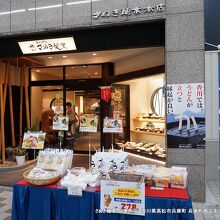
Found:
<svg viewBox="0 0 220 220"><path fill-rule="evenodd" d="M97 132L98 117L94 114L80 116L80 132Z"/></svg>

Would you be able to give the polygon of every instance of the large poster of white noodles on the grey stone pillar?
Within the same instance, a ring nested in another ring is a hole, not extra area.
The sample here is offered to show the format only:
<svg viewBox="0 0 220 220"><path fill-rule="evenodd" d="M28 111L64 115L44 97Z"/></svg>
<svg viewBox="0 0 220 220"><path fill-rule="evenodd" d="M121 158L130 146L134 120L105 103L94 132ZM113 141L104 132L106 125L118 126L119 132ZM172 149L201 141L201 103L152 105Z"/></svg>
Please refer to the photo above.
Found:
<svg viewBox="0 0 220 220"><path fill-rule="evenodd" d="M167 85L167 145L205 147L204 83Z"/></svg>

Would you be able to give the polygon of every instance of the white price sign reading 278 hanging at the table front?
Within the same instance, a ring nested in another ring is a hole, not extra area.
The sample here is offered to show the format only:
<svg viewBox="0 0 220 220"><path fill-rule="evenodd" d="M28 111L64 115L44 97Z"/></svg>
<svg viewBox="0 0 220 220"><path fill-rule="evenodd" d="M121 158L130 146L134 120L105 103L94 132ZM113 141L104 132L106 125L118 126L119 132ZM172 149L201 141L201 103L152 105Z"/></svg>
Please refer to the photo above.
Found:
<svg viewBox="0 0 220 220"><path fill-rule="evenodd" d="M100 209L107 213L145 215L145 183L101 181Z"/></svg>

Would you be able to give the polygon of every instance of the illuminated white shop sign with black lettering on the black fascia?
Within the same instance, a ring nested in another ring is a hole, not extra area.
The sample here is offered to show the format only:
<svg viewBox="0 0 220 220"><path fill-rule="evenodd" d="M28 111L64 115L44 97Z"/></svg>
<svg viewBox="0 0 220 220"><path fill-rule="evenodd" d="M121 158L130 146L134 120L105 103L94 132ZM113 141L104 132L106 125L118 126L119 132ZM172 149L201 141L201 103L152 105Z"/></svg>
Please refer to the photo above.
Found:
<svg viewBox="0 0 220 220"><path fill-rule="evenodd" d="M76 50L73 37L18 42L23 54L50 53Z"/></svg>

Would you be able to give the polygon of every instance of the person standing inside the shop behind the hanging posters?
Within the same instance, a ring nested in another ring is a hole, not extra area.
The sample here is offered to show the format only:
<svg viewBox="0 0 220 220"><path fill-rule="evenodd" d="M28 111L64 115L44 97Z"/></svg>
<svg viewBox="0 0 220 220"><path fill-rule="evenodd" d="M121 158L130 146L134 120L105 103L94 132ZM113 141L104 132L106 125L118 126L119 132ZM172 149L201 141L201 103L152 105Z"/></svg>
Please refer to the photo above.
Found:
<svg viewBox="0 0 220 220"><path fill-rule="evenodd" d="M77 124L79 122L77 113L72 108L72 103L66 103L66 115L69 117L68 136L73 136L77 132Z"/></svg>

